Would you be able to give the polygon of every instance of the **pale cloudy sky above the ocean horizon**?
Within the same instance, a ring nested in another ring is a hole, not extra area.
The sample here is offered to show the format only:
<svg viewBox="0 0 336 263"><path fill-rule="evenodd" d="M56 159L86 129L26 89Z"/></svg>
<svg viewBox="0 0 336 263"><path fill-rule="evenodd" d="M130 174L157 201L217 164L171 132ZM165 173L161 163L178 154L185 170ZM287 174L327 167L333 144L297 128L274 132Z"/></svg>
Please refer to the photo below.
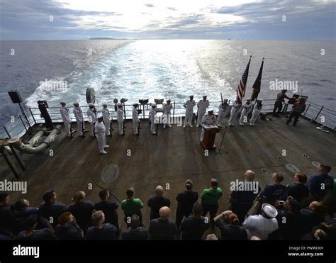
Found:
<svg viewBox="0 0 336 263"><path fill-rule="evenodd" d="M336 40L332 0L0 0L0 40Z"/></svg>

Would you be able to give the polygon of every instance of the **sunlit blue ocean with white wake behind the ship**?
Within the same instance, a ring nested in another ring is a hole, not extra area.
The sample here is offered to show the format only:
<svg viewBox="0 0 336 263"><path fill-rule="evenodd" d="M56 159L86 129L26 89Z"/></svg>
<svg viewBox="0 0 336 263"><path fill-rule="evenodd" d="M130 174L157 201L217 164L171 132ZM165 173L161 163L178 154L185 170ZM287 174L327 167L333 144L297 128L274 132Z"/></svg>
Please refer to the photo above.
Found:
<svg viewBox="0 0 336 263"><path fill-rule="evenodd" d="M333 41L270 40L35 40L0 41L0 125L18 114L10 90L37 107L66 101L86 105L86 88L100 104L113 99L186 101L203 95L235 99L235 89L252 55L245 97L264 60L259 97L274 99L272 83L295 83L297 92L336 111L336 45ZM65 84L61 85L60 84ZM295 90L294 90L295 91ZM101 108L101 107L99 107Z"/></svg>

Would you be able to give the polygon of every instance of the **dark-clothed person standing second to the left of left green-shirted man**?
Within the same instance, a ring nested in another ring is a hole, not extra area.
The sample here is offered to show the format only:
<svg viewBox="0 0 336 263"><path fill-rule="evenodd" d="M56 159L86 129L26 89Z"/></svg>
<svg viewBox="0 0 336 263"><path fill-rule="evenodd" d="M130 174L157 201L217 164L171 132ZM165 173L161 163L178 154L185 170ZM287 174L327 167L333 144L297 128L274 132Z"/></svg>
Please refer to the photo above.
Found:
<svg viewBox="0 0 336 263"><path fill-rule="evenodd" d="M92 225L91 216L94 210L94 204L90 201L85 201L85 196L84 191L78 191L72 198L74 203L69 206L69 211L76 218L76 223L82 228L84 234L86 234L87 228Z"/></svg>

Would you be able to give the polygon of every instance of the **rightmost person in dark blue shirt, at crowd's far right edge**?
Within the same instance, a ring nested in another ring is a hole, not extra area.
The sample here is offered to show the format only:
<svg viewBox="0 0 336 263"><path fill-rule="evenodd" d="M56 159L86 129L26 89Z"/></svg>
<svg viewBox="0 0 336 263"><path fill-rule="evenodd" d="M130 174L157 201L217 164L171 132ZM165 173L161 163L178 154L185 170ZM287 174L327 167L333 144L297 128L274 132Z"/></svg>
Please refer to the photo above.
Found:
<svg viewBox="0 0 336 263"><path fill-rule="evenodd" d="M321 201L327 194L327 191L332 190L334 179L330 177L330 171L330 165L319 164L318 174L315 174L308 179L307 186L309 195L312 199Z"/></svg>

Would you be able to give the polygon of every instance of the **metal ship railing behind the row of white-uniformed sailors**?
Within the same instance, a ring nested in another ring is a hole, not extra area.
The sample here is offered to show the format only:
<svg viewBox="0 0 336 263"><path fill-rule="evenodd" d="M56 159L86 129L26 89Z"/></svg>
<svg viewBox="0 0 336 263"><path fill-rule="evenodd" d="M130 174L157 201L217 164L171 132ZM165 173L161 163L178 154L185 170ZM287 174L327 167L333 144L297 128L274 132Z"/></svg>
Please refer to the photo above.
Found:
<svg viewBox="0 0 336 263"><path fill-rule="evenodd" d="M274 108L274 99L264 99L262 101L262 113L271 113ZM229 101L229 104L232 104L232 101ZM171 118L177 118L185 115L185 108L183 107L184 102L174 102L172 101L173 109L171 111ZM220 105L220 101L211 102L209 108L213 108L215 114L218 113L218 106ZM76 121L74 114L72 113L73 107L69 108L69 115L71 120ZM89 121L87 118L86 111L89 106L81 106L84 121ZM157 108L162 108L162 104L157 104ZM101 112L102 107L96 106L97 112ZM115 104L108 105L108 109L111 114L111 118L116 121L116 111ZM123 105L125 119L132 118L132 109L133 103L125 103ZM150 103L145 105L139 104L139 109L142 110L142 113L139 115L140 119L148 118L150 112ZM35 124L44 123L44 119L40 116L40 111L38 108L25 108L25 113L28 118L28 121L23 116L23 114L19 114L15 118L13 117L9 123L0 127L0 138L13 138L14 136L22 136L26 133L26 131L30 126ZM53 123L62 122L62 118L60 115L60 107L50 107L48 108L50 118ZM284 103L283 112L288 113L291 111L291 105L288 103ZM197 107L194 108L194 113L197 114ZM311 101L306 102L306 111L302 114L304 118L307 118L312 123L319 123L320 125L325 125L327 128L331 130L336 130L336 111L331 110L330 108L326 108L325 106L320 106ZM29 125L28 125L29 122Z"/></svg>

